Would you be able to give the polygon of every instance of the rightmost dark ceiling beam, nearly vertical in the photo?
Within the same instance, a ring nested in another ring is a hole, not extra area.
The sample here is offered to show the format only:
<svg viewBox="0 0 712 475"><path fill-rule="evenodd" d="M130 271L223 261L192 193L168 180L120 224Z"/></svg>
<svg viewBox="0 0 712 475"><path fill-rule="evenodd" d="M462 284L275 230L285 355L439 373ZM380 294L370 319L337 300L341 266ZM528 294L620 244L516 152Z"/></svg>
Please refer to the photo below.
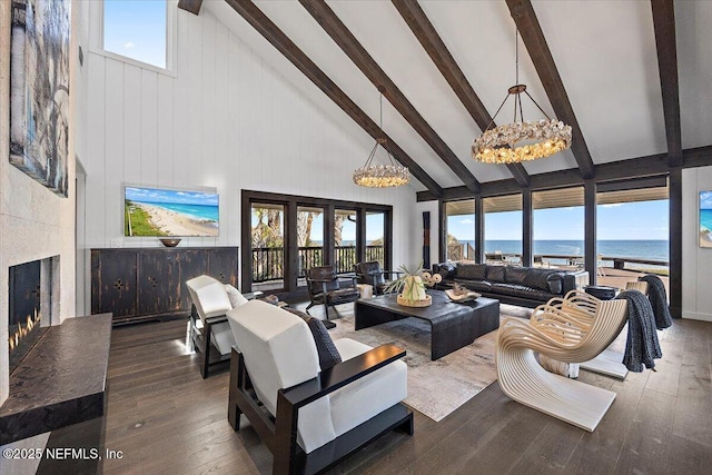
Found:
<svg viewBox="0 0 712 475"><path fill-rule="evenodd" d="M673 0L651 0L657 70L663 95L668 156L671 167L682 166L682 130L680 126L680 89L678 86L678 46Z"/></svg>

